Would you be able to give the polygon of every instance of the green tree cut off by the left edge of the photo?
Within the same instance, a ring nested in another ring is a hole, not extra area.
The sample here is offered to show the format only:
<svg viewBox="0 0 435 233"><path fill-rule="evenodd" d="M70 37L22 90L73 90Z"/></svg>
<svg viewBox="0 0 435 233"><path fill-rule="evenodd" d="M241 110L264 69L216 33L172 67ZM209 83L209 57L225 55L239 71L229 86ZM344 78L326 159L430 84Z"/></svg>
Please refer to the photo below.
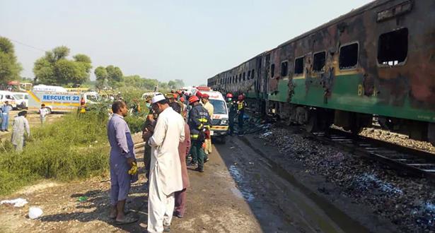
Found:
<svg viewBox="0 0 435 233"><path fill-rule="evenodd" d="M0 37L0 82L18 80L23 70L17 62L15 49L8 38Z"/></svg>

